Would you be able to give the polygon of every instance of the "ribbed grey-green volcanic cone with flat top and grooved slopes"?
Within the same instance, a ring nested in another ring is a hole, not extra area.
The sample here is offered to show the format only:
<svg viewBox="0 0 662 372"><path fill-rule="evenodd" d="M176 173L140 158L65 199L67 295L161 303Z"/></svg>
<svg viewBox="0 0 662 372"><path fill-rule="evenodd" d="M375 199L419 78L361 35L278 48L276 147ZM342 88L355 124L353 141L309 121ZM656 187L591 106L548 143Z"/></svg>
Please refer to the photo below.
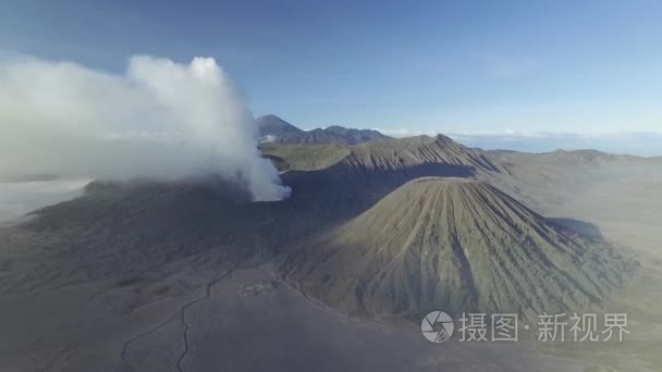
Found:
<svg viewBox="0 0 662 372"><path fill-rule="evenodd" d="M281 269L304 292L351 313L526 317L601 303L632 263L486 182L424 177L306 239Z"/></svg>

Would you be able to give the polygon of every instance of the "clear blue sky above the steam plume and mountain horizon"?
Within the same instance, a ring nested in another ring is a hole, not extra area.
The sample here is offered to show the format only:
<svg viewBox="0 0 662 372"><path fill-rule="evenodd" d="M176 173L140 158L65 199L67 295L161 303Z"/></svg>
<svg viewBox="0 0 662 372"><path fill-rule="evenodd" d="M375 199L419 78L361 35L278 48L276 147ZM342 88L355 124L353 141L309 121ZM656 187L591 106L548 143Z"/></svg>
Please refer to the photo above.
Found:
<svg viewBox="0 0 662 372"><path fill-rule="evenodd" d="M138 53L213 57L256 114L305 128L480 135L485 147L563 134L534 148L547 150L573 134L662 133L660 20L661 1L637 0L23 0L0 5L0 50L113 73Z"/></svg>

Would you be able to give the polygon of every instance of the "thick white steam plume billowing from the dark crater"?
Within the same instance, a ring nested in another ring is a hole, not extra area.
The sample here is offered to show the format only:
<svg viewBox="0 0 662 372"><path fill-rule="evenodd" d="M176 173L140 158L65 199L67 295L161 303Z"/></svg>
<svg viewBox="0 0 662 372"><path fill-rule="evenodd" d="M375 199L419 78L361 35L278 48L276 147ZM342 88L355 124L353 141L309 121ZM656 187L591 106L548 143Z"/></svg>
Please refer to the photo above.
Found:
<svg viewBox="0 0 662 372"><path fill-rule="evenodd" d="M124 75L34 58L0 61L0 179L219 174L255 200L286 198L257 124L212 58L136 55Z"/></svg>

